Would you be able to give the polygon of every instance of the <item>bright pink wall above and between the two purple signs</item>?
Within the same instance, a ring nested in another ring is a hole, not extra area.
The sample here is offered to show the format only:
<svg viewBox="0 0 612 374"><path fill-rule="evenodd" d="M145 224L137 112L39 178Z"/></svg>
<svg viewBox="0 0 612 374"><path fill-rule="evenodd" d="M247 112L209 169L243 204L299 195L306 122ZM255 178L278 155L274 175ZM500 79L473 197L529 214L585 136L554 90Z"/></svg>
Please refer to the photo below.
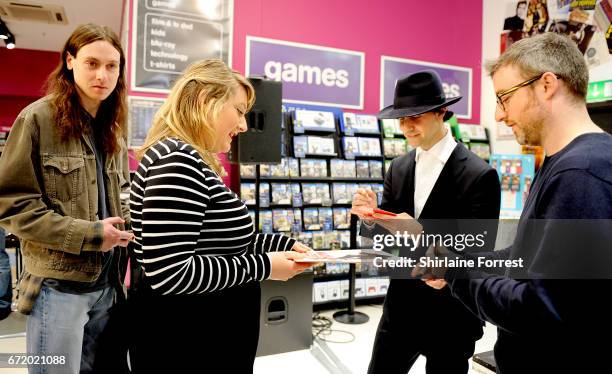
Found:
<svg viewBox="0 0 612 374"><path fill-rule="evenodd" d="M245 70L246 36L365 52L366 113L380 102L380 56L473 69L471 120L480 121L482 0L234 0L232 65Z"/></svg>

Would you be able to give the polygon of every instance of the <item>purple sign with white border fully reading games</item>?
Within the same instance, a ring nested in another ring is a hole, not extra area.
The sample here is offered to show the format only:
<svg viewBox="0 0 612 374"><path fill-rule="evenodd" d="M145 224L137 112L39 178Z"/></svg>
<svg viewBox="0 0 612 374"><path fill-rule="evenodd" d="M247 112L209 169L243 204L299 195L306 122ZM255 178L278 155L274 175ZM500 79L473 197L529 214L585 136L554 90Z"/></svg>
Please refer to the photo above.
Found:
<svg viewBox="0 0 612 374"><path fill-rule="evenodd" d="M283 101L363 109L363 52L247 36L246 74L283 83Z"/></svg>

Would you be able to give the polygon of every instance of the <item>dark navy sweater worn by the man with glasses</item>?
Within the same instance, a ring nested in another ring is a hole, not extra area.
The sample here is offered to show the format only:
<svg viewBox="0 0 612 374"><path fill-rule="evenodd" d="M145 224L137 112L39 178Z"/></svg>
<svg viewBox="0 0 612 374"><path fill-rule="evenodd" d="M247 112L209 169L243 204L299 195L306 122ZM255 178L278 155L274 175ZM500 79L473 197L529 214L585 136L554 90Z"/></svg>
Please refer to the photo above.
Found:
<svg viewBox="0 0 612 374"><path fill-rule="evenodd" d="M496 253L524 258L523 270L505 277L461 268L446 274L452 294L498 327L495 358L503 374L609 365L595 352L601 347L595 341L612 332L611 150L611 135L586 134L545 159L513 245ZM593 248L593 239L608 244ZM589 275L584 265L604 273L577 279Z"/></svg>

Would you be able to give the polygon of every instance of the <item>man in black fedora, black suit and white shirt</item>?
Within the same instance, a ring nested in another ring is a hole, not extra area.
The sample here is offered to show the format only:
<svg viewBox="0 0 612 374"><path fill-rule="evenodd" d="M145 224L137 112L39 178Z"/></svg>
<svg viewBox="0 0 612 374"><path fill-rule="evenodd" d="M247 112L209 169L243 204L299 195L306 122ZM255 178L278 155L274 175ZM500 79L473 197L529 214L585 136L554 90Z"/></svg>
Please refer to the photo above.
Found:
<svg viewBox="0 0 612 374"><path fill-rule="evenodd" d="M457 144L444 121L452 117L440 77L431 70L398 80L393 105L378 115L399 119L408 143L416 148L393 160L385 175L380 208L408 219L462 220L499 218L497 172L463 145ZM352 212L363 221L361 235L370 236L376 195L359 189ZM379 221L380 222L380 221ZM496 227L490 233L495 238ZM491 248L492 249L492 248ZM418 279L392 273L368 373L406 374L420 354L428 374L468 372L468 359L482 336L483 322L447 289L434 290Z"/></svg>

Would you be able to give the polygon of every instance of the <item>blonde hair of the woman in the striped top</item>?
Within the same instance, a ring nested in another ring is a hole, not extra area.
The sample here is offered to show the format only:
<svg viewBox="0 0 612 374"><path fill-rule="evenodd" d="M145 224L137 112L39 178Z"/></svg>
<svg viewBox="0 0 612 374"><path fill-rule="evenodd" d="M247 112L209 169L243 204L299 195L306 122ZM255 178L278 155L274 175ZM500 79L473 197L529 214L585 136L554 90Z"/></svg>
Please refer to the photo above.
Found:
<svg viewBox="0 0 612 374"><path fill-rule="evenodd" d="M226 175L211 150L219 113L239 87L246 91L250 109L255 102L255 90L242 74L221 60L202 60L189 66L155 113L144 145L136 153L138 159L158 141L175 137L191 144L217 174Z"/></svg>

